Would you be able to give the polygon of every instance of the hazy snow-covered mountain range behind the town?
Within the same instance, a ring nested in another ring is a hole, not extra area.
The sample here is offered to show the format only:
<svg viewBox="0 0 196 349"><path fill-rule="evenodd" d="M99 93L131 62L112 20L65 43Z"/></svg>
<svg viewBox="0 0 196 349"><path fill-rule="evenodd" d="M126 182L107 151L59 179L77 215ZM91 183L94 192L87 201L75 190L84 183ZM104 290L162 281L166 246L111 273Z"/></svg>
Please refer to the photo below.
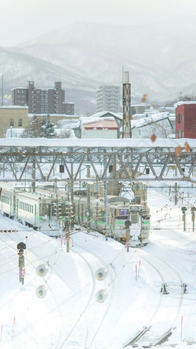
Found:
<svg viewBox="0 0 196 349"><path fill-rule="evenodd" d="M9 71L18 72L23 85L29 76L37 87L61 80L67 96L76 104L83 99L87 109L98 85L122 85L124 65L130 72L133 98L140 101L147 93L149 101L163 102L179 91L192 94L196 88L195 42L196 21L191 19L186 27L181 21L137 26L76 22L6 49L10 62L4 63ZM18 68L10 66L11 58L17 58ZM14 79L13 84L19 83Z"/></svg>

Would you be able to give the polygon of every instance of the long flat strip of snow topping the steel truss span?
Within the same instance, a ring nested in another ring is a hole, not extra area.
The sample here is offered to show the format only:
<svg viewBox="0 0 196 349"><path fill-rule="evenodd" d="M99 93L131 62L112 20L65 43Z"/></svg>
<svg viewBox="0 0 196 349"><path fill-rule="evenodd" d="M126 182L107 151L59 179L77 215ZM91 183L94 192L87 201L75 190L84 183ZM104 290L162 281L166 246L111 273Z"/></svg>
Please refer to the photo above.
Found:
<svg viewBox="0 0 196 349"><path fill-rule="evenodd" d="M187 142L190 147L196 148L196 139L159 139L157 138L155 142L152 142L150 139L47 139L47 138L1 138L0 146L61 146L61 147L70 147L70 146L81 146L81 147L132 147L132 148L144 148L144 147L170 147L176 148L176 146L184 147L184 143Z"/></svg>

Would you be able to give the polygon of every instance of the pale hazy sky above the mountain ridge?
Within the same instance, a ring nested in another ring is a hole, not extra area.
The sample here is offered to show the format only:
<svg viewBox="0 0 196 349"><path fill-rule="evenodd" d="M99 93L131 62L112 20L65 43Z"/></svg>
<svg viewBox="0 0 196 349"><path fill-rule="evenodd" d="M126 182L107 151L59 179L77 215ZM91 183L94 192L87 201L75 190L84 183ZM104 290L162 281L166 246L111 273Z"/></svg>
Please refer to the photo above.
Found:
<svg viewBox="0 0 196 349"><path fill-rule="evenodd" d="M0 0L0 46L16 45L75 21L141 24L196 15L196 0Z"/></svg>

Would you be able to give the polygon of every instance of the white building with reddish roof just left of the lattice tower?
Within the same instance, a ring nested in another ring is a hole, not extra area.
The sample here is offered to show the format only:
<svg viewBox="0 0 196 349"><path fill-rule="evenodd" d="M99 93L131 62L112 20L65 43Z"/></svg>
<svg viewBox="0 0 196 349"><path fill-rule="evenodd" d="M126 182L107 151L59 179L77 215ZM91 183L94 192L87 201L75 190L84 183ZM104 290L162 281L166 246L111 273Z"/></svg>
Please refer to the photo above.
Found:
<svg viewBox="0 0 196 349"><path fill-rule="evenodd" d="M81 138L117 139L119 127L113 117L83 118L81 121Z"/></svg>

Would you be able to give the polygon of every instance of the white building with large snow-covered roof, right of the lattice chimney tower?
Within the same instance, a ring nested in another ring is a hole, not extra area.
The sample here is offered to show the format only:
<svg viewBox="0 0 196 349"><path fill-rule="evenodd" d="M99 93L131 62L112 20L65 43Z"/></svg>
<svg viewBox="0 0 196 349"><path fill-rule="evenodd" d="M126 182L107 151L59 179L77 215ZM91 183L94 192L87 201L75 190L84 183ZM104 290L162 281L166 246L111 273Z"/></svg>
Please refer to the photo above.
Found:
<svg viewBox="0 0 196 349"><path fill-rule="evenodd" d="M169 113L157 113L139 120L131 120L132 138L171 138L173 126Z"/></svg>

